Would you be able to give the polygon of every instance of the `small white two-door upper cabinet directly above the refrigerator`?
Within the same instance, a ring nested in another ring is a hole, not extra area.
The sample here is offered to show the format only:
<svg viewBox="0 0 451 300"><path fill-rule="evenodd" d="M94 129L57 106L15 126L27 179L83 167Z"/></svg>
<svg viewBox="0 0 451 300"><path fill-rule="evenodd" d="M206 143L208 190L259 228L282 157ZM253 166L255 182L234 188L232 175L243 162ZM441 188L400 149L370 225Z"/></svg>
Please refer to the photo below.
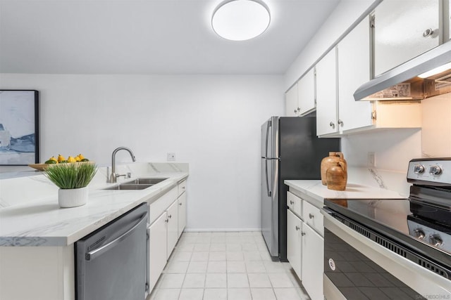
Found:
<svg viewBox="0 0 451 300"><path fill-rule="evenodd" d="M314 68L311 68L285 93L285 116L307 115L315 108L315 72Z"/></svg>

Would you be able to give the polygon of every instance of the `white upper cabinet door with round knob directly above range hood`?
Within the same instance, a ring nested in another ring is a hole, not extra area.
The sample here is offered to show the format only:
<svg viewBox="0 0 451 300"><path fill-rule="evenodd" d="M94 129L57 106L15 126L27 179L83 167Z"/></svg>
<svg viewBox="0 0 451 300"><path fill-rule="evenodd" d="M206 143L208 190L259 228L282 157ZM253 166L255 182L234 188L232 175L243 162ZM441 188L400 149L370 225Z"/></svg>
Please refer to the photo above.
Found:
<svg viewBox="0 0 451 300"><path fill-rule="evenodd" d="M376 7L376 76L440 44L442 32L439 26L439 2L440 0L384 0ZM429 31L433 33L428 35Z"/></svg>

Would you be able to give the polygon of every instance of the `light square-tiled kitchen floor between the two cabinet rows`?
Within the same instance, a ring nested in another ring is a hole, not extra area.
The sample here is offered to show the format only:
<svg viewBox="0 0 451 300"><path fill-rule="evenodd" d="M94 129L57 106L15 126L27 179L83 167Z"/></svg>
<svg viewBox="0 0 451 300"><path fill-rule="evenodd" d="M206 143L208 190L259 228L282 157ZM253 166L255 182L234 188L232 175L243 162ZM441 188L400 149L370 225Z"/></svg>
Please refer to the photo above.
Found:
<svg viewBox="0 0 451 300"><path fill-rule="evenodd" d="M259 232L183 233L149 300L306 300Z"/></svg>

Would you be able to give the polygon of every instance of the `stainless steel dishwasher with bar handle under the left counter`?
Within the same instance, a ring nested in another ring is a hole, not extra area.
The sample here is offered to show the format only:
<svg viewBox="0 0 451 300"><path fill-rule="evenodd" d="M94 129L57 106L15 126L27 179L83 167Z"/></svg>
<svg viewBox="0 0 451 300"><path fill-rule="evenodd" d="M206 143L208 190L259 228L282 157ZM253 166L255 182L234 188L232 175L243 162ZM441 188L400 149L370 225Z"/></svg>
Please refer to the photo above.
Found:
<svg viewBox="0 0 451 300"><path fill-rule="evenodd" d="M147 204L75 242L77 300L142 300L148 287Z"/></svg>

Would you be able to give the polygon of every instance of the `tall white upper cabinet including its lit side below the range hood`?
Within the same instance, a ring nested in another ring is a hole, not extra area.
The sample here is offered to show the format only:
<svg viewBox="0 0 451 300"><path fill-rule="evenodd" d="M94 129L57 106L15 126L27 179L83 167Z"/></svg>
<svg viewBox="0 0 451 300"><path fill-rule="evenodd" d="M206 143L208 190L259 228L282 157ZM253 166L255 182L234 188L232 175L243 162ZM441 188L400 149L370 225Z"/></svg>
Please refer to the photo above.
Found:
<svg viewBox="0 0 451 300"><path fill-rule="evenodd" d="M419 128L419 101L355 101L370 79L370 20L362 22L316 64L316 133L323 137L369 129Z"/></svg>

